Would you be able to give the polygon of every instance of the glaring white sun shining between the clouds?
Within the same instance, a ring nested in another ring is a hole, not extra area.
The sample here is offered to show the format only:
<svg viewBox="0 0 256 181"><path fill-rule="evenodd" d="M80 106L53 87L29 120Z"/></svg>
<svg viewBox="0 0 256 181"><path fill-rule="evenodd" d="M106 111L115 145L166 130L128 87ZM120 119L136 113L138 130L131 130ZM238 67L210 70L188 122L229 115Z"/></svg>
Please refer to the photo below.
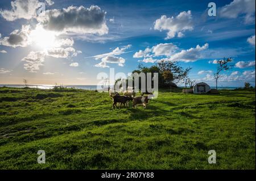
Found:
<svg viewBox="0 0 256 181"><path fill-rule="evenodd" d="M42 26L37 26L31 31L31 41L40 48L49 49L56 45L56 33L53 31L44 30Z"/></svg>

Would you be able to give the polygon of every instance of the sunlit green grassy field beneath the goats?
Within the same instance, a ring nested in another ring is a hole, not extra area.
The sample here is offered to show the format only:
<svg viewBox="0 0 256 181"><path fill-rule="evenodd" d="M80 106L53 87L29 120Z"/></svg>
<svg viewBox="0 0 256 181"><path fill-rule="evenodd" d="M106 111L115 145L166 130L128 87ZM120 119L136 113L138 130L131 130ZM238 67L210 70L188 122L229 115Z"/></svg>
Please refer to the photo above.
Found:
<svg viewBox="0 0 256 181"><path fill-rule="evenodd" d="M255 169L255 91L162 90L145 110L95 91L0 93L0 169Z"/></svg>

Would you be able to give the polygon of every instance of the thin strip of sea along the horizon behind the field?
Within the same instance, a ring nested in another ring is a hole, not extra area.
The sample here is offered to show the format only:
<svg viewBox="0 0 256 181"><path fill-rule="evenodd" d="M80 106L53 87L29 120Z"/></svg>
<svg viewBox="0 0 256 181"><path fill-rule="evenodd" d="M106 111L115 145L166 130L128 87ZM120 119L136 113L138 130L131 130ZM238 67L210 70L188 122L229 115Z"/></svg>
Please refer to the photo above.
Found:
<svg viewBox="0 0 256 181"><path fill-rule="evenodd" d="M55 85L28 85L30 88L37 88L37 89L53 89ZM63 85L64 87L68 88L75 88L75 89L83 89L83 90L97 90L97 85ZM0 87L14 87L14 88L23 88L24 85L5 85L0 84ZM182 86L181 86L182 87ZM216 87L210 87L215 89ZM241 87L218 87L218 90L234 90Z"/></svg>

